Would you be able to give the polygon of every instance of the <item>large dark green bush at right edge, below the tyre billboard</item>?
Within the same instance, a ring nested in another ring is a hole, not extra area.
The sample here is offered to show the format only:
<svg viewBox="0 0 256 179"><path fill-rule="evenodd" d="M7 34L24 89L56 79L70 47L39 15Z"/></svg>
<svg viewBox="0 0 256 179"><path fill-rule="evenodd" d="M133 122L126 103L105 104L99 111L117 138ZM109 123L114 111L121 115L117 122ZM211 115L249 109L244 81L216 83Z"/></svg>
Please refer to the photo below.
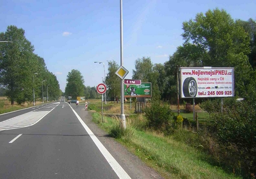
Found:
<svg viewBox="0 0 256 179"><path fill-rule="evenodd" d="M255 107L255 101L234 102L225 107L223 114L214 116L215 137L225 148L223 161L233 166L233 171L245 172L247 176L256 173Z"/></svg>

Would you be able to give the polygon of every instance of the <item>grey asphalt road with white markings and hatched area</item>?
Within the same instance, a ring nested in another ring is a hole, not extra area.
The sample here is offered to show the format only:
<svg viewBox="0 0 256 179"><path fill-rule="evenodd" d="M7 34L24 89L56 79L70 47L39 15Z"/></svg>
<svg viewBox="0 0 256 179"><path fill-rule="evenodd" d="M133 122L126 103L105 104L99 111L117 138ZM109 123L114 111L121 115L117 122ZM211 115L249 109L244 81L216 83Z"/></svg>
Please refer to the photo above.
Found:
<svg viewBox="0 0 256 179"><path fill-rule="evenodd" d="M81 108L56 102L1 115L0 178L130 178L81 120Z"/></svg>

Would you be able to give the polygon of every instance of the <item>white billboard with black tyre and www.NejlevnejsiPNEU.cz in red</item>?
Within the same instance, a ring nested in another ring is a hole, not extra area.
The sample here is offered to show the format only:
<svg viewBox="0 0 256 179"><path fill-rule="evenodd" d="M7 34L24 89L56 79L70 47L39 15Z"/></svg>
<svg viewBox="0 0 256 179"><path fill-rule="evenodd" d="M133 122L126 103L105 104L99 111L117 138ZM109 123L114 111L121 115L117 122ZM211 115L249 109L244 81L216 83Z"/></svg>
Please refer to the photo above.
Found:
<svg viewBox="0 0 256 179"><path fill-rule="evenodd" d="M181 67L181 98L234 96L234 68Z"/></svg>

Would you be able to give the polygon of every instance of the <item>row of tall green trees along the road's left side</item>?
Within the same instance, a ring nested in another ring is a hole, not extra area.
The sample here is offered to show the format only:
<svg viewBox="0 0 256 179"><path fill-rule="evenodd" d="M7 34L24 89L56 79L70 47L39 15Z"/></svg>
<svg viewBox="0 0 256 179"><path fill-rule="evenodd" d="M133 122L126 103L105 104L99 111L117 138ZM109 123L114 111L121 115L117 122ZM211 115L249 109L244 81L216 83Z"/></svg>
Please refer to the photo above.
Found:
<svg viewBox="0 0 256 179"><path fill-rule="evenodd" d="M45 60L34 53L35 48L24 36L25 31L16 26L8 26L0 33L0 87L5 95L18 104L33 101L33 88L36 98L42 96L42 85L49 100L56 100L62 95L55 74L48 71ZM45 80L46 82L42 82Z"/></svg>

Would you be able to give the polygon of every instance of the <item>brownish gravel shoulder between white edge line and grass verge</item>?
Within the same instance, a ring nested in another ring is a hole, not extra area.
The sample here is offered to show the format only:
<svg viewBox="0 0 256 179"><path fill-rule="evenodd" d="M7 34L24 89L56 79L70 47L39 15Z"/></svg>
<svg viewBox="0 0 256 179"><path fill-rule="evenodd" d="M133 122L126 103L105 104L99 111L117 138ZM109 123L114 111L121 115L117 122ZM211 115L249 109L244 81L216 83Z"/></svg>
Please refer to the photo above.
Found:
<svg viewBox="0 0 256 179"><path fill-rule="evenodd" d="M155 170L147 167L137 156L131 154L124 146L114 141L113 138L107 136L104 131L97 127L91 121L90 112L81 110L79 115L131 178L163 178Z"/></svg>

